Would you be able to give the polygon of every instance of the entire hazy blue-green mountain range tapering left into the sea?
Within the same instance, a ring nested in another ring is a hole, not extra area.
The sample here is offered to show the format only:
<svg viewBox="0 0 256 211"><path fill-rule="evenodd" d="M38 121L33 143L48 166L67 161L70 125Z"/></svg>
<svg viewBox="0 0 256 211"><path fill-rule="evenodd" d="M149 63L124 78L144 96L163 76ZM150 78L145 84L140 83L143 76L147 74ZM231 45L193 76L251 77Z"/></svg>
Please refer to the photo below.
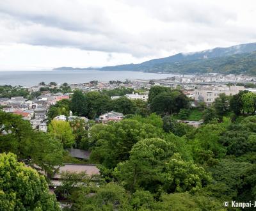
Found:
<svg viewBox="0 0 256 211"><path fill-rule="evenodd" d="M140 64L104 66L102 68L60 67L53 70L129 70L181 74L219 72L221 74L256 75L256 43L226 48L217 47L188 54L179 53Z"/></svg>

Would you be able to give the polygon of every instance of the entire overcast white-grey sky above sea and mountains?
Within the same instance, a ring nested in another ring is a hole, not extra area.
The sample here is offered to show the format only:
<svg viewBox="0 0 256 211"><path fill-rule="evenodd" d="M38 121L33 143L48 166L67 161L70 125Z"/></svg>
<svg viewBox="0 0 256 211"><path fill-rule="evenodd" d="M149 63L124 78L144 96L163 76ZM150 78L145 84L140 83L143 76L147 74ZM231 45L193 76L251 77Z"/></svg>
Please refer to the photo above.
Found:
<svg viewBox="0 0 256 211"><path fill-rule="evenodd" d="M140 63L256 42L255 0L1 0L0 70Z"/></svg>

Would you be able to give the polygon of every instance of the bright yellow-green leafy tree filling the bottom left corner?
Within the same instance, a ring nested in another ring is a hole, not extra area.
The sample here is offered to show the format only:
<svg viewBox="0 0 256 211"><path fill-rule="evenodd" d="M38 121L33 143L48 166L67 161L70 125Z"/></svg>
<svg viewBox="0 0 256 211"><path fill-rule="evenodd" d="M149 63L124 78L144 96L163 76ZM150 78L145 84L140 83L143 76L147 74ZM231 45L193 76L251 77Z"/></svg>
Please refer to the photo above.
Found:
<svg viewBox="0 0 256 211"><path fill-rule="evenodd" d="M13 153L0 154L1 210L60 210L44 176L17 161Z"/></svg>

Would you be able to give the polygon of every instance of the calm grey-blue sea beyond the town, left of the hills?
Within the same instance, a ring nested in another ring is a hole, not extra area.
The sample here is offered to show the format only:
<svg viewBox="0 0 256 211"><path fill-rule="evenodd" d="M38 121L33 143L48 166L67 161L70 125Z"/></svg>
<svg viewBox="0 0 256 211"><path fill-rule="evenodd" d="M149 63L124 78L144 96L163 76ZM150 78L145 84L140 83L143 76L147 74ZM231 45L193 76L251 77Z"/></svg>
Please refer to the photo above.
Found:
<svg viewBox="0 0 256 211"><path fill-rule="evenodd" d="M164 79L175 74L152 74L145 72L131 71L98 71L98 70L77 70L77 71L12 71L0 72L0 85L21 85L34 86L39 82L49 83L51 81L62 84L77 82L90 82L93 80L108 82L111 80L125 81L125 79Z"/></svg>

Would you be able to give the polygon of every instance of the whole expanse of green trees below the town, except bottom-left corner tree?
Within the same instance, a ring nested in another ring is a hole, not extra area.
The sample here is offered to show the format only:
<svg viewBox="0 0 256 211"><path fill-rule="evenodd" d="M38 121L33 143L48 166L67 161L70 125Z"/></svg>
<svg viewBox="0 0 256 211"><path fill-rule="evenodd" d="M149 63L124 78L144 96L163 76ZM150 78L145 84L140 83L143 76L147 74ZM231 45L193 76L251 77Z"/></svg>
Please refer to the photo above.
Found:
<svg viewBox="0 0 256 211"><path fill-rule="evenodd" d="M63 162L63 146L89 150L89 160L70 160L97 164L100 176L64 173L57 190L67 191L65 210L225 210L223 201L255 198L255 94L240 91L220 95L210 107L190 107L189 99L171 88L153 86L148 102L111 100L112 94L132 90L115 91L74 91L71 100L49 109L45 133L0 112L0 152L16 153L18 160L52 173ZM112 110L124 113L124 120L93 121ZM92 120L52 120L69 111ZM198 128L179 122L202 117ZM0 203L16 206L4 201L8 197L0 189Z"/></svg>

